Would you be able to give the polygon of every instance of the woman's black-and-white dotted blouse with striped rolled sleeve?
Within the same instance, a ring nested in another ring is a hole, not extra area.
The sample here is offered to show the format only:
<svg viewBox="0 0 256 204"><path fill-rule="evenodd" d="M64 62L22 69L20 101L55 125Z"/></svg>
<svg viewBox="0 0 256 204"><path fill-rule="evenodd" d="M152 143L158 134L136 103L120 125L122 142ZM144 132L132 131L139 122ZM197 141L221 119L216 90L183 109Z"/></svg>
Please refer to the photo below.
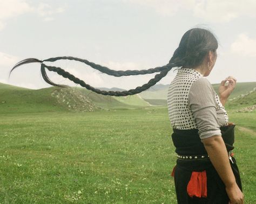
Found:
<svg viewBox="0 0 256 204"><path fill-rule="evenodd" d="M198 129L201 139L221 136L228 115L211 83L192 68L178 69L167 94L173 129Z"/></svg>

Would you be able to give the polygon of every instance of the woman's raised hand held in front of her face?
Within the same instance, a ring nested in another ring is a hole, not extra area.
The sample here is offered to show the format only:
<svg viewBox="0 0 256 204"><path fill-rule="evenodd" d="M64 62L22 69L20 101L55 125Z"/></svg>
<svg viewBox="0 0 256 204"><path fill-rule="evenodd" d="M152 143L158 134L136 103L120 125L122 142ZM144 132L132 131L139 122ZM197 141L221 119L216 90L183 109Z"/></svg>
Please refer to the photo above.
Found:
<svg viewBox="0 0 256 204"><path fill-rule="evenodd" d="M226 82L228 82L228 85L225 86ZM226 79L221 81L219 87L219 96L221 100L226 102L228 96L233 92L236 83L237 80L233 76L228 76Z"/></svg>

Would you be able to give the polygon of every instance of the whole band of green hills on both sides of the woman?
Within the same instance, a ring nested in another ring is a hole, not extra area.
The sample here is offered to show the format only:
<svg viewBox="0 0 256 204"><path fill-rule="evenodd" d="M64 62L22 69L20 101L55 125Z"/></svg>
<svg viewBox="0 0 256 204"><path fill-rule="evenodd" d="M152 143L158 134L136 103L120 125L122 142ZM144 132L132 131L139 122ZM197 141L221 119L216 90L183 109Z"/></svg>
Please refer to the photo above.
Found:
<svg viewBox="0 0 256 204"><path fill-rule="evenodd" d="M0 113L47 111L97 111L100 109L131 109L150 105L166 106L169 85L155 85L132 96L104 96L80 87L50 87L32 90L0 83ZM214 84L217 90L219 85ZM254 109L256 82L237 83L226 108ZM101 88L119 90L118 88ZM253 91L254 90L254 91ZM218 91L217 91L218 93ZM251 107L251 108L250 108ZM247 109L245 109L247 110Z"/></svg>

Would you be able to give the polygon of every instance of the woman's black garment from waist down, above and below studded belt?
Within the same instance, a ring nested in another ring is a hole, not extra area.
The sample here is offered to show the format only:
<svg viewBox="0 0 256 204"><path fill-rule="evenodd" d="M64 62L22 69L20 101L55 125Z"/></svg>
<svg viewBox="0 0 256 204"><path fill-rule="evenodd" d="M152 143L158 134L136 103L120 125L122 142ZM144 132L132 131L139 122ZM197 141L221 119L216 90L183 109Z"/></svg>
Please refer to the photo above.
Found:
<svg viewBox="0 0 256 204"><path fill-rule="evenodd" d="M224 139L227 151L234 149L234 124L221 127L221 134ZM177 130L173 129L172 140L176 146L176 152L180 155L197 156L207 154L203 143L198 135L197 129ZM230 164L239 188L242 190L240 174L235 158L232 157ZM192 172L206 171L207 177L207 197L192 198L187 193L187 185L191 179ZM177 202L186 203L228 203L224 182L212 165L210 159L177 159L174 172L174 184L176 188Z"/></svg>

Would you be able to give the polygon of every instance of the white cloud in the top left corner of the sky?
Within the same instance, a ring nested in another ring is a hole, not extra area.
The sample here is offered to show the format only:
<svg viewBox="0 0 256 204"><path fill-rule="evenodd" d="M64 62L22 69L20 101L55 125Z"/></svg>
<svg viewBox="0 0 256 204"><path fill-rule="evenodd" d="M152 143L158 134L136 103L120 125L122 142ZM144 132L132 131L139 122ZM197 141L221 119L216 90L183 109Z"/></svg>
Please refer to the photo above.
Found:
<svg viewBox="0 0 256 204"><path fill-rule="evenodd" d="M39 3L31 5L26 0L0 0L0 30L3 30L6 22L10 18L14 18L24 13L36 13L43 18L44 21L53 20L56 13L62 13L66 10L67 5L64 4L58 8L52 8L51 5Z"/></svg>

